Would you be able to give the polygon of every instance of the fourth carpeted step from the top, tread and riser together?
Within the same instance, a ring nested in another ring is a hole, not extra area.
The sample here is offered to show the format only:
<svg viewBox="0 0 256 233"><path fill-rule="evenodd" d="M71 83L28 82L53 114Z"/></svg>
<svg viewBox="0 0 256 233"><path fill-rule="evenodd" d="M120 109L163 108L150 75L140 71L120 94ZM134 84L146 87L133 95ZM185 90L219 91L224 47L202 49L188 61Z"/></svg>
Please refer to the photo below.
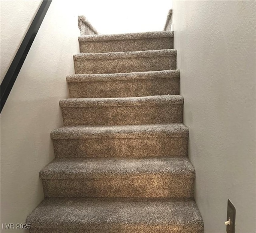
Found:
<svg viewBox="0 0 256 233"><path fill-rule="evenodd" d="M61 100L60 107L64 125L180 123L183 98L178 95L78 98Z"/></svg>

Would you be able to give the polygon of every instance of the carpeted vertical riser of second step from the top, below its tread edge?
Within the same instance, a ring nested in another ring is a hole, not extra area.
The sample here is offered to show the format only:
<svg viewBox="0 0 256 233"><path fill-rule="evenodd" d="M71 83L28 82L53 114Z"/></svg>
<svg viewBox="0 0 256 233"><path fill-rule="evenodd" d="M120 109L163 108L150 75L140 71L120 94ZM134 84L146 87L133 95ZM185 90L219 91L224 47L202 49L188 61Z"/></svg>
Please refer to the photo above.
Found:
<svg viewBox="0 0 256 233"><path fill-rule="evenodd" d="M176 56L74 60L75 74L114 74L176 69Z"/></svg>

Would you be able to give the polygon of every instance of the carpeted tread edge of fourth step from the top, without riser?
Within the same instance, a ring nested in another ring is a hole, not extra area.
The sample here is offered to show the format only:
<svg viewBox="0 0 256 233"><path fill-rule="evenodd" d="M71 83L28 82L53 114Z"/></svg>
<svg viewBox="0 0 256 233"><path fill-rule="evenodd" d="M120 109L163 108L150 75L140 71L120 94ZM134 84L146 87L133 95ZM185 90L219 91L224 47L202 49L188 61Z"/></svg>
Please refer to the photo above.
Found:
<svg viewBox="0 0 256 233"><path fill-rule="evenodd" d="M180 95L118 97L118 98L69 98L60 100L60 107L76 108L90 106L162 106L169 104L183 104Z"/></svg>

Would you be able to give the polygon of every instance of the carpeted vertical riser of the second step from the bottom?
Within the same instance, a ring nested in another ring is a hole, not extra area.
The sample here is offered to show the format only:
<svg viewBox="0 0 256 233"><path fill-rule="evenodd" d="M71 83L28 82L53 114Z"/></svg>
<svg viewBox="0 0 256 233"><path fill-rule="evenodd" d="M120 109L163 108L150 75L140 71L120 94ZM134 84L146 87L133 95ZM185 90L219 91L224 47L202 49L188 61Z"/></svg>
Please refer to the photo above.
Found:
<svg viewBox="0 0 256 233"><path fill-rule="evenodd" d="M42 183L45 197L193 197L194 174L102 174L85 179L43 179Z"/></svg>

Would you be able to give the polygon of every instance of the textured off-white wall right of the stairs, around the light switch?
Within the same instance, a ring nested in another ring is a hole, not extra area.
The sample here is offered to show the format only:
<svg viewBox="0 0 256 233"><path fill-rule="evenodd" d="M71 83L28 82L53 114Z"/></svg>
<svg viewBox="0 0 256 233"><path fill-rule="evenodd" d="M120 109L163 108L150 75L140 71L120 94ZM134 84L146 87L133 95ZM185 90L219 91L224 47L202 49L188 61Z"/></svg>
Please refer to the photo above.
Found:
<svg viewBox="0 0 256 233"><path fill-rule="evenodd" d="M224 233L227 200L236 232L254 233L255 1L173 2L195 198L205 233Z"/></svg>

